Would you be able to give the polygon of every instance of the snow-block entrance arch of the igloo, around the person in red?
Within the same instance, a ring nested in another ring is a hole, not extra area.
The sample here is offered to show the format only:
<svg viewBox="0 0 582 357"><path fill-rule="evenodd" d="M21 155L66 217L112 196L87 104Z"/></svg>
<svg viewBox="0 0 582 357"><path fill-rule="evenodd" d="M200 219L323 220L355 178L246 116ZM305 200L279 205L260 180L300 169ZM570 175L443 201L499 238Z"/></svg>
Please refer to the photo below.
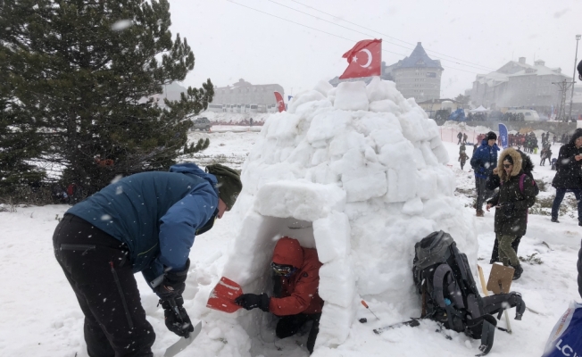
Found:
<svg viewBox="0 0 582 357"><path fill-rule="evenodd" d="M353 320L355 278L350 258L350 227L343 208L345 192L310 182L278 181L264 185L241 233L223 276L237 281L245 293L272 294L270 262L280 237L293 237L316 248L320 262L320 297L325 301L316 345L345 341ZM241 311L238 319L249 336L262 342L273 319L262 311ZM345 328L341 328L345 327Z"/></svg>

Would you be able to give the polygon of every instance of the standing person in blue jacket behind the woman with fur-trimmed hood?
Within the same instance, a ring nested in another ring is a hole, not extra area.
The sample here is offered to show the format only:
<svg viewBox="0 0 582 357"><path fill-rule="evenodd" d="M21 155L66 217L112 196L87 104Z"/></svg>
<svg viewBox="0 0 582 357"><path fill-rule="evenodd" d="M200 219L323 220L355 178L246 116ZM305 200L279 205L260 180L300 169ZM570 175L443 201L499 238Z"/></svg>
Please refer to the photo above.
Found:
<svg viewBox="0 0 582 357"><path fill-rule="evenodd" d="M483 203L493 195L493 191L487 189L486 182L489 175L497 167L499 147L496 142L497 135L493 131L489 131L470 159L470 165L475 170L475 187L477 189L475 209L477 217L483 217Z"/></svg>

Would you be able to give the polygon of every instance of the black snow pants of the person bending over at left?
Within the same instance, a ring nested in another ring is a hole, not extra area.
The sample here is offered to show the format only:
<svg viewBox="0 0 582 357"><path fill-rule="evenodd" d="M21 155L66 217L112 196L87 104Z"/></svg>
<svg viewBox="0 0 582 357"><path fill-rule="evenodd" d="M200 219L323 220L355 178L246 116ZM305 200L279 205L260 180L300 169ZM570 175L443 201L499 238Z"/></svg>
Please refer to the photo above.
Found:
<svg viewBox="0 0 582 357"><path fill-rule="evenodd" d="M71 214L54 230L53 245L85 314L88 355L153 356L154 328L145 320L127 246Z"/></svg>

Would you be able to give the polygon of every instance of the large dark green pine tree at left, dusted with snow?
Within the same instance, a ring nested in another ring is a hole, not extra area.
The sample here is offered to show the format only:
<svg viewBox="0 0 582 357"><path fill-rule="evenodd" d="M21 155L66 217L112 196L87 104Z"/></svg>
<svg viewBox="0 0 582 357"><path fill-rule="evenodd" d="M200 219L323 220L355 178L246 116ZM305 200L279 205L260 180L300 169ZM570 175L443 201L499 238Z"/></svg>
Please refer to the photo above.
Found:
<svg viewBox="0 0 582 357"><path fill-rule="evenodd" d="M169 10L167 0L0 0L0 136L29 137L12 155L54 164L87 194L167 170L214 94L208 79L154 101L195 63L186 38L172 40Z"/></svg>

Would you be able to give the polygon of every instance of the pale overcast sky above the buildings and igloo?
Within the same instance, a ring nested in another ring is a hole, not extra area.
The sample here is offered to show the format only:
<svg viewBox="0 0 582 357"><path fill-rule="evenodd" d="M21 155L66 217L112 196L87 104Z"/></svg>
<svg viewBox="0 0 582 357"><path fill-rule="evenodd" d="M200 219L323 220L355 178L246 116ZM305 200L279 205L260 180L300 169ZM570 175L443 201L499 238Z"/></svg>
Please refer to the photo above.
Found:
<svg viewBox="0 0 582 357"><path fill-rule="evenodd" d="M362 39L382 38L387 64L422 42L445 68L441 97L454 97L520 56L571 76L582 34L581 0L170 0L170 12L172 34L195 54L184 85L245 79L286 95L340 75L342 54Z"/></svg>

